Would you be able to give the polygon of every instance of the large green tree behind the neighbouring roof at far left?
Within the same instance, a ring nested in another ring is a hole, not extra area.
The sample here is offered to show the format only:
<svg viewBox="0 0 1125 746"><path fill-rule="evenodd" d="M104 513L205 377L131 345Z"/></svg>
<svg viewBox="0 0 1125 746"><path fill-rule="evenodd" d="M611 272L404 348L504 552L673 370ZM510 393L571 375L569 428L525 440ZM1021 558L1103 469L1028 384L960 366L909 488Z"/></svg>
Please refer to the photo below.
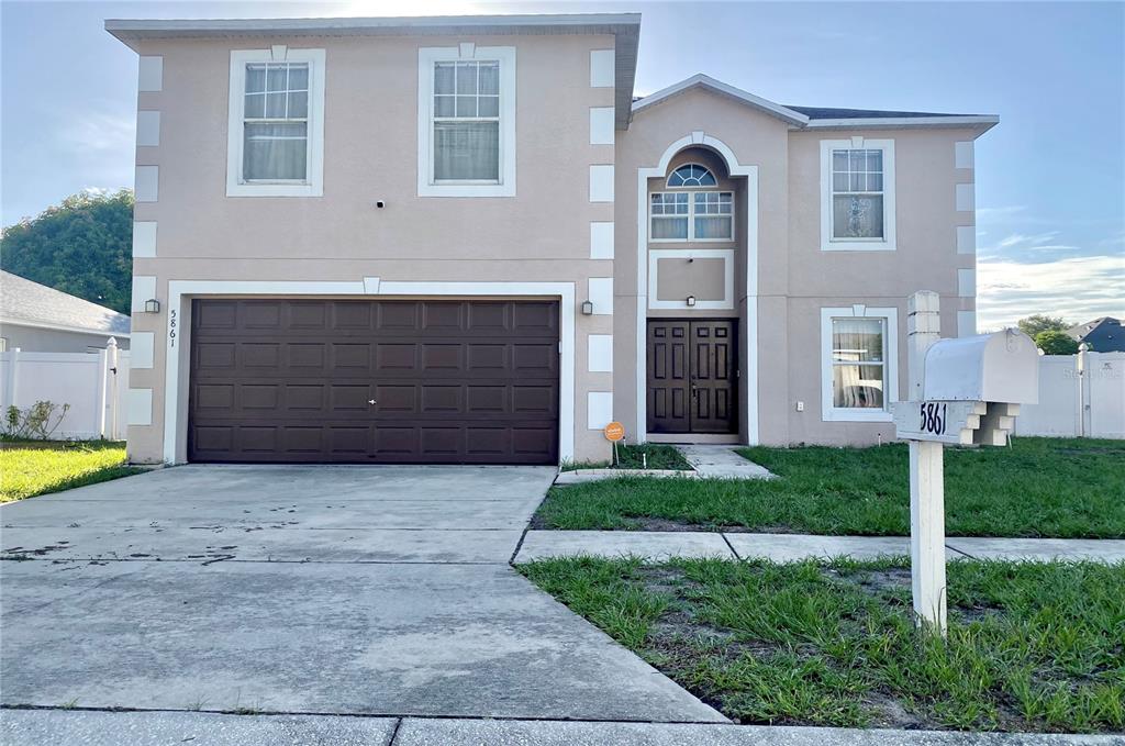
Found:
<svg viewBox="0 0 1125 746"><path fill-rule="evenodd" d="M3 269L129 313L133 192L82 192L3 230Z"/></svg>

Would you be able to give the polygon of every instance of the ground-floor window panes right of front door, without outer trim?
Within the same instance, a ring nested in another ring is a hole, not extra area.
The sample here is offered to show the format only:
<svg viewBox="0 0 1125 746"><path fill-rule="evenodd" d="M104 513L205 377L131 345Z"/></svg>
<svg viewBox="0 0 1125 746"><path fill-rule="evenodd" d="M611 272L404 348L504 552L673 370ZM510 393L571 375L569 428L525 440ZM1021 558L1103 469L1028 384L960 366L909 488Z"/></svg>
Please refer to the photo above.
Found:
<svg viewBox="0 0 1125 746"><path fill-rule="evenodd" d="M883 410L886 320L832 318L832 407Z"/></svg>

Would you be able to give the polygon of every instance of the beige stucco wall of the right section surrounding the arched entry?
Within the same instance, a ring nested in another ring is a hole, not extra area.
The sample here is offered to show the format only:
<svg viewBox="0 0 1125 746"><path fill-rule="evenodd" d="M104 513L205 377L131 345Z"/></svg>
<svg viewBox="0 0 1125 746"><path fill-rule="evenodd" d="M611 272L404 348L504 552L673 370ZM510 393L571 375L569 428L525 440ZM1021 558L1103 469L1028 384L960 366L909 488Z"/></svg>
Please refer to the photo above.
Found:
<svg viewBox="0 0 1125 746"><path fill-rule="evenodd" d="M721 141L739 164L758 167L757 293L748 296L745 284L736 284L736 296L742 324L747 307L757 309L750 330L753 349L741 350L740 359L745 386L747 352L758 358L754 402L759 442L847 444L893 439L890 423L822 421L820 311L854 304L898 308L900 392L906 390L907 297L919 289L939 293L942 334L957 334L957 312L975 307L974 298L957 297L957 270L973 268L975 257L956 250L956 226L973 225L974 216L956 210L955 185L972 182L973 171L956 169L954 152L955 143L975 140L979 131L796 132L776 117L701 89L638 113L619 138L616 160L614 291L620 311L614 318L614 408L630 430L637 430L637 362L644 359L644 345L637 343L638 314L667 315L638 309L638 219L647 219L647 205L638 205L638 169L657 165L669 145L693 132ZM820 249L819 143L853 135L894 141L897 251ZM737 224L741 227L745 222ZM745 242L739 242L738 254L747 254ZM740 268L736 277L745 276ZM695 312L700 313L706 315ZM796 411L799 402L802 412ZM744 411L744 440L748 431Z"/></svg>

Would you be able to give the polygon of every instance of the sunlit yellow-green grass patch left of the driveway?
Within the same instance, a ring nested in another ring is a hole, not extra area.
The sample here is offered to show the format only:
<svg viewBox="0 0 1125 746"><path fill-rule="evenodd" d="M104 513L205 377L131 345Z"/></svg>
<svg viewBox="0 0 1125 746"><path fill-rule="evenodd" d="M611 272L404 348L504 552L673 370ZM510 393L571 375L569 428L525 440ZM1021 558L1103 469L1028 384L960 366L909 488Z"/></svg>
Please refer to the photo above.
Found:
<svg viewBox="0 0 1125 746"><path fill-rule="evenodd" d="M117 442L51 443L0 450L0 503L138 474Z"/></svg>

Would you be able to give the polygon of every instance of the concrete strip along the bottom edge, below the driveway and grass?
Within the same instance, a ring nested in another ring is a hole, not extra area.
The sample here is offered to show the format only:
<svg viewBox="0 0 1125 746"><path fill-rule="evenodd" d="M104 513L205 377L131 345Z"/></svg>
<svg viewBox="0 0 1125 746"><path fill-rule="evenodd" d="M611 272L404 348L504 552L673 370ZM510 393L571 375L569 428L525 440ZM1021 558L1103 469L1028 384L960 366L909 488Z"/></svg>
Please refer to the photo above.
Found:
<svg viewBox="0 0 1125 746"><path fill-rule="evenodd" d="M3 710L7 746L1118 746L1122 736L651 722Z"/></svg>

